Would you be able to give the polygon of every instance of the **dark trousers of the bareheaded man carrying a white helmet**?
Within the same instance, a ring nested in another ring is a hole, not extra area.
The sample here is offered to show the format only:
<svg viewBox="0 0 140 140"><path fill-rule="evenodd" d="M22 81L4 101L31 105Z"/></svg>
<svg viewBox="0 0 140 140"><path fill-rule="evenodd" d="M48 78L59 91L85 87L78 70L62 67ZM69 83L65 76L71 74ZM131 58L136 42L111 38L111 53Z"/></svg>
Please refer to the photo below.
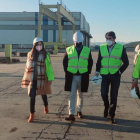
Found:
<svg viewBox="0 0 140 140"><path fill-rule="evenodd" d="M101 96L104 101L105 108L109 109L110 116L115 116L116 106L117 106L117 96L118 90L120 87L120 77L115 75L104 75L102 76L102 84L101 84ZM108 100L108 92L109 85L111 85L110 89L110 108L109 108L109 100Z"/></svg>

